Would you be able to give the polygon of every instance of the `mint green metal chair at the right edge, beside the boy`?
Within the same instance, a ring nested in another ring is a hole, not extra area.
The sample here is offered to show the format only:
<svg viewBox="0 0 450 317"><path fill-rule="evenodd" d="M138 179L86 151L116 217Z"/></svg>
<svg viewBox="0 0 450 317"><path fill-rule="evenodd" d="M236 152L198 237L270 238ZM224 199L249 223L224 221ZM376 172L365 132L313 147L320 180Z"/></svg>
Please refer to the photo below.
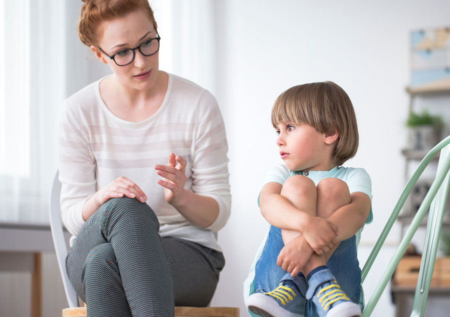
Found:
<svg viewBox="0 0 450 317"><path fill-rule="evenodd" d="M368 257L364 267L362 268L362 282L364 281L365 277L367 276L367 273L369 272L373 261L375 260L382 244L384 243L384 240L387 237L387 234L389 233L390 229L392 228L392 225L395 221L395 219L398 216L398 213L400 212L401 208L403 207L403 204L409 195L412 187L414 186L415 182L419 178L419 176L422 174L425 167L428 165L428 163L436 156L436 154L440 151L439 155L439 162L437 164L437 172L436 177L434 178L434 181L426 194L425 198L423 199L422 204L420 205L420 208L418 209L417 213L415 214L414 218L412 219L412 222L406 231L404 237L401 239L400 245L398 246L394 256L392 257L392 260L390 261L389 265L387 266L387 269L384 273L384 275L381 277L380 282L378 283L378 286L376 287L375 291L373 292L370 300L367 303L367 306L365 307L362 316L367 317L370 316L370 314L373 311L373 308L375 307L376 303L378 302L381 293L385 289L387 283L389 282L389 279L392 277L392 274L395 270L395 268L398 265L398 262L400 261L401 257L403 256L406 247L411 242L412 236L417 231L417 228L420 225L420 222L422 221L423 217L426 215L426 212L429 207L429 214L426 224L426 232L425 232L425 239L424 239L424 247L423 247L423 253L422 258L420 262L420 270L417 280L417 285L415 288L414 293L414 301L412 305L412 312L411 317L416 316L423 316L425 312L425 306L426 306L426 299L428 297L429 292L429 285L431 283L431 276L433 274L433 268L434 268L434 262L436 260L436 252L437 252L437 245L439 242L439 236L440 236L440 229L442 226L442 219L443 214L445 211L445 203L447 200L448 195L448 189L450 186L450 173L448 172L450 169L450 136L443 139L439 144L437 144L434 148L432 148L428 154L423 158L423 160L418 165L417 169L415 170L414 174L411 176L409 181L407 182L405 188L403 189L403 192L401 193L400 198L397 201L397 204L395 205L394 210L392 211L386 225L384 226L383 231L381 232L380 237L378 238L378 241L376 242L375 246L373 247L372 252L370 253L370 256Z"/></svg>

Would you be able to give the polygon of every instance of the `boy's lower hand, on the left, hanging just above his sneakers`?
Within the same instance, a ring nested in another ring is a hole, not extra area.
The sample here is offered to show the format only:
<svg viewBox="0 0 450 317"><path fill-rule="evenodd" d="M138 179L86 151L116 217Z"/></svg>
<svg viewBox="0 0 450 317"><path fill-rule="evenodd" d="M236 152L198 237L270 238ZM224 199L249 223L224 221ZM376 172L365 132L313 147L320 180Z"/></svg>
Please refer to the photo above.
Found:
<svg viewBox="0 0 450 317"><path fill-rule="evenodd" d="M294 277L309 261L313 252L304 236L300 235L284 245L278 254L276 264Z"/></svg>

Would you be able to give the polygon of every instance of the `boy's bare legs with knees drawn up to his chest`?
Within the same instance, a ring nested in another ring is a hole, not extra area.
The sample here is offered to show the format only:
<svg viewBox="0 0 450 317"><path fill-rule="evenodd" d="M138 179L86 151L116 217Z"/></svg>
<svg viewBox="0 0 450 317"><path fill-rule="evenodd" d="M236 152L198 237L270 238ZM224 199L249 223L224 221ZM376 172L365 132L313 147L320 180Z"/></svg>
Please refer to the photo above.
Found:
<svg viewBox="0 0 450 317"><path fill-rule="evenodd" d="M284 183L281 195L286 197L297 209L324 219L351 202L347 184L337 178L325 178L315 187L314 182L305 176L291 176ZM282 229L281 235L286 244L300 233ZM326 265L336 248L337 245L323 255L313 253L301 272L307 276L313 269Z"/></svg>

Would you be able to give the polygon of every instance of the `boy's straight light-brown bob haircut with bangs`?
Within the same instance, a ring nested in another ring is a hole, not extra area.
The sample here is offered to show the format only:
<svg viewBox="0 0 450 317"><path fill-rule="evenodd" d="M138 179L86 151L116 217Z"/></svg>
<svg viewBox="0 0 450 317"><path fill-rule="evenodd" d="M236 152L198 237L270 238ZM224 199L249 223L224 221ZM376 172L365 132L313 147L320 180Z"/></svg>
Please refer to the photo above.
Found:
<svg viewBox="0 0 450 317"><path fill-rule="evenodd" d="M358 149L358 127L353 105L345 91L332 81L294 86L278 96L272 108L274 128L279 122L306 123L320 133L339 134L334 147L336 165Z"/></svg>

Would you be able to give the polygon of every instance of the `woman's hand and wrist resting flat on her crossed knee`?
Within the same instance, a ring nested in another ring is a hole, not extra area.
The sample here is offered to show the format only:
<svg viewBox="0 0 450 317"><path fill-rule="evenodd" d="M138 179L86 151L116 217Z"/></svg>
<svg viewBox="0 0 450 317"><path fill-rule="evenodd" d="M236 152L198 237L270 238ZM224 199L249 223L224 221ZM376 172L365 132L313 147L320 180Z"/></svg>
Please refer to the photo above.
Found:
<svg viewBox="0 0 450 317"><path fill-rule="evenodd" d="M105 187L99 189L83 206L82 217L86 221L101 205L110 198L117 197L136 198L141 203L147 200L144 192L134 182L126 177L120 176L114 179Z"/></svg>

